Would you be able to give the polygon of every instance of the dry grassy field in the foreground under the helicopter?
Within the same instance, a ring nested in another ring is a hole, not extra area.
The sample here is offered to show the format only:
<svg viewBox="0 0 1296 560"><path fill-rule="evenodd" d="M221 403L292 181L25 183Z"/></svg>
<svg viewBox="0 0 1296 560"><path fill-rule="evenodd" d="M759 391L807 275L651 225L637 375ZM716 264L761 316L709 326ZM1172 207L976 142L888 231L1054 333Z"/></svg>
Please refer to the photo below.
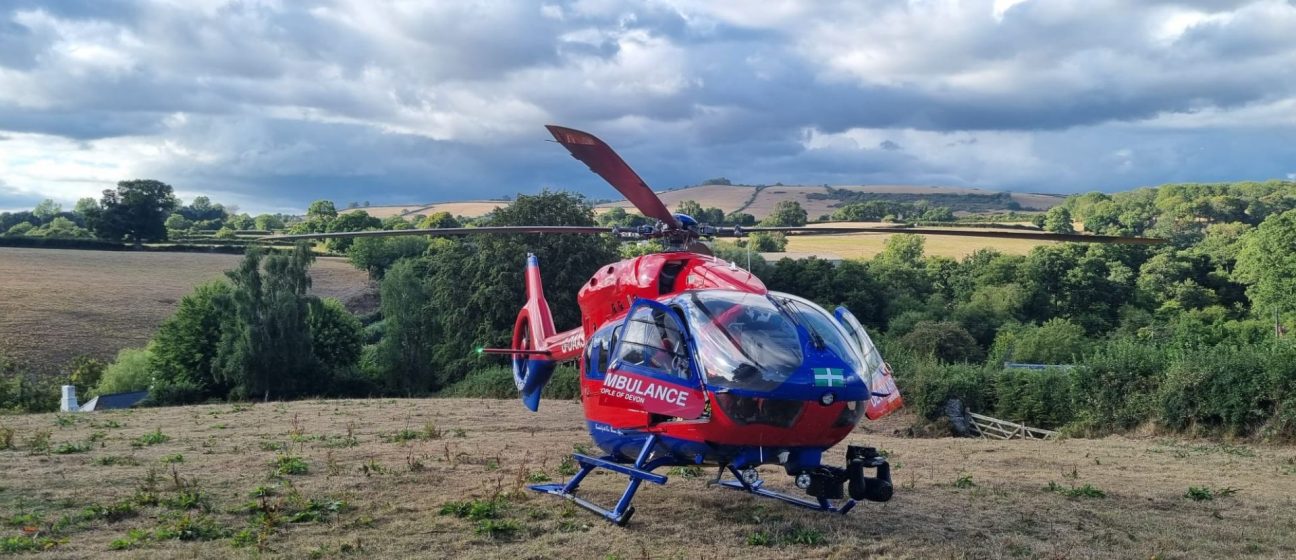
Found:
<svg viewBox="0 0 1296 560"><path fill-rule="evenodd" d="M710 469L675 471L665 486L644 485L638 515L616 528L525 490L562 480L564 456L588 445L573 402L530 414L513 401L307 401L0 423L17 447L0 451L3 537L53 539L30 557L1296 555L1291 447L924 439L898 434L902 416L848 438L889 454L897 490L886 504L811 513L708 487ZM31 451L41 433L58 452ZM767 484L789 487L781 471L762 471ZM582 490L608 502L623 485L594 474ZM1190 487L1200 500L1186 496ZM477 520L442 513L468 500L477 508L460 513Z"/></svg>

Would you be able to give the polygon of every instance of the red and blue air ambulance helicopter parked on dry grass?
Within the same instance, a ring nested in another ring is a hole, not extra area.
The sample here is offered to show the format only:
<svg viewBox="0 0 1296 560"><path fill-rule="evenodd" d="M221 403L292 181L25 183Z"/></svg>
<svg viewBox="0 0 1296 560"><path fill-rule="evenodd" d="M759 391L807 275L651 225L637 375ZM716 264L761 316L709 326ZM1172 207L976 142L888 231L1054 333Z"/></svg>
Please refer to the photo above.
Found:
<svg viewBox="0 0 1296 560"><path fill-rule="evenodd" d="M564 362L578 362L581 406L601 455L573 454L579 469L566 482L531 490L560 496L625 526L643 482L665 485L667 467L717 467L715 485L831 513L894 494L890 465L875 447L848 446L841 465L826 461L862 417L877 420L903 406L890 366L845 307L832 312L806 298L770 290L752 272L712 254L702 240L753 232L785 235L925 233L1116 244L1147 237L920 227L732 227L701 224L671 213L603 140L561 126L553 139L621 192L656 224L634 228L509 226L277 236L275 239L393 235L613 235L661 240L665 250L600 267L577 294L581 324L557 331L527 255L526 302L507 349L522 404L540 395ZM766 487L761 465L778 465L805 496ZM584 499L581 484L603 469L627 478L616 504ZM726 477L728 474L730 477Z"/></svg>

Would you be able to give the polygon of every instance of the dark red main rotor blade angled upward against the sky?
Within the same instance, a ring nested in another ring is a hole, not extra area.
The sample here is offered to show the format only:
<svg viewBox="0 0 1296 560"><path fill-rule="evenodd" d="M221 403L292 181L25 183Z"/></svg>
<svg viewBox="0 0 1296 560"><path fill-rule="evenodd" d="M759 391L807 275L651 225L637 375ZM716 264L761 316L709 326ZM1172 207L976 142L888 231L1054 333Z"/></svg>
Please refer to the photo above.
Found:
<svg viewBox="0 0 1296 560"><path fill-rule="evenodd" d="M666 209L657 193L652 192L648 184L639 178L639 174L630 169L625 159L621 159L621 156L607 143L592 134L575 128L557 124L546 124L544 127L550 130L559 144L572 152L572 157L590 166L590 171L599 174L603 180L612 184L645 216L662 220L670 227L679 227L679 220Z"/></svg>

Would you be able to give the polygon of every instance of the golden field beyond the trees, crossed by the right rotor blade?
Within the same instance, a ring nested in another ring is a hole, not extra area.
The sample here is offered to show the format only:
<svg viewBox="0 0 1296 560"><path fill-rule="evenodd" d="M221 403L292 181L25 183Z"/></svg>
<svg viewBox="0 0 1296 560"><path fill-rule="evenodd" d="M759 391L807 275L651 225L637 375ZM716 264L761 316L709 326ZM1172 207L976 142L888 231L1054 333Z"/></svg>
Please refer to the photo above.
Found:
<svg viewBox="0 0 1296 560"><path fill-rule="evenodd" d="M815 227L816 224L810 224ZM823 224L823 227L874 227L889 226L883 223L841 222ZM982 229L984 231L984 229ZM842 258L872 258L883 251L894 233L855 233L833 236L788 236L787 250L791 253L835 254ZM955 237L955 236L923 236L927 242L924 253L934 257L963 258L978 249L994 249L1004 254L1026 254L1039 245L1051 245L1056 241L1015 240L1015 239L984 239L984 237Z"/></svg>

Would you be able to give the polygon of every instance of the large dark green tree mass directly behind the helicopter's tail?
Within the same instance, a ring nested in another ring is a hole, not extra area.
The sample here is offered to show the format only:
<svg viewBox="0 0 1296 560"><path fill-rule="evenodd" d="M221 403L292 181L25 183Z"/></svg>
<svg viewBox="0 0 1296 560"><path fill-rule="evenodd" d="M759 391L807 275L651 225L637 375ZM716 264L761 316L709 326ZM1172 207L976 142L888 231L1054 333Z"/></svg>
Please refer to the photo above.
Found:
<svg viewBox="0 0 1296 560"><path fill-rule="evenodd" d="M577 194L518 196L483 226L594 226L594 211ZM617 259L607 236L494 235L435 240L428 254L402 259L382 279L386 336L377 367L402 393L422 393L478 368L473 349L507 346L525 302L526 255L540 262L555 325L581 321L575 293L599 267Z"/></svg>

